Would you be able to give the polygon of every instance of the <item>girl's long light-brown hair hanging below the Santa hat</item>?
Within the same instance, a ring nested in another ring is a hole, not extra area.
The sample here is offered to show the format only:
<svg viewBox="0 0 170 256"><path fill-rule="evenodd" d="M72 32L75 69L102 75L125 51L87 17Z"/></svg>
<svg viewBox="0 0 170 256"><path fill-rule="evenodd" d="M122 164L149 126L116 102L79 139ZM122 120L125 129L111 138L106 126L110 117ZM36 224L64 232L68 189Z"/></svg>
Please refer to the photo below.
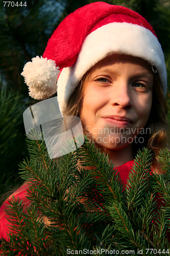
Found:
<svg viewBox="0 0 170 256"><path fill-rule="evenodd" d="M80 81L75 92L71 95L67 108L64 115L75 115L79 116L80 101L84 93L84 83L88 80L92 69L89 70ZM167 104L165 97L161 89L161 83L159 75L154 74L154 87L153 87L153 101L150 116L148 122L144 127L145 130L149 129L150 133L142 134L144 138L144 143L134 143L133 144L133 155L136 156L137 151L142 147L148 147L152 153L152 160L157 166L159 166L159 152L167 144L167 134L168 134L168 121L167 121ZM141 135L139 134L138 137Z"/></svg>

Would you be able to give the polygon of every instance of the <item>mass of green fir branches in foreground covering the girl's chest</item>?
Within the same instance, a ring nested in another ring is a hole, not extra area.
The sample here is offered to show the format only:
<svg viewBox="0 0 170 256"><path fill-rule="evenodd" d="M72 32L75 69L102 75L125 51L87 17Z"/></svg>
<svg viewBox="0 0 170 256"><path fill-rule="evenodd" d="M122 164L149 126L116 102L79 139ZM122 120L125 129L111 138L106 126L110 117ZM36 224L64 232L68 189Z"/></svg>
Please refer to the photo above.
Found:
<svg viewBox="0 0 170 256"><path fill-rule="evenodd" d="M30 204L10 200L12 232L10 242L1 241L1 255L66 255L68 248L168 255L168 150L160 154L163 175L151 175L150 152L139 151L125 186L108 156L87 138L58 159L48 157L43 141L27 143L30 159L20 164L20 174L30 184Z"/></svg>

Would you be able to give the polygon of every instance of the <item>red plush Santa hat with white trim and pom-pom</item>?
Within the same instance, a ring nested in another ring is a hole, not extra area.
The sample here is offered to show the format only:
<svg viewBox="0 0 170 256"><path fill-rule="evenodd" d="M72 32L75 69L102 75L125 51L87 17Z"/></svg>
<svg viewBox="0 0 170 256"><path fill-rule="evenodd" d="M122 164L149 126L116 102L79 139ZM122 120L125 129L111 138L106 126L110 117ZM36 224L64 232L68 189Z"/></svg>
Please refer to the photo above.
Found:
<svg viewBox="0 0 170 256"><path fill-rule="evenodd" d="M43 56L26 63L21 75L35 99L46 99L57 91L63 113L84 74L113 53L140 57L155 66L166 94L164 55L151 25L128 8L104 2L69 14L48 40Z"/></svg>

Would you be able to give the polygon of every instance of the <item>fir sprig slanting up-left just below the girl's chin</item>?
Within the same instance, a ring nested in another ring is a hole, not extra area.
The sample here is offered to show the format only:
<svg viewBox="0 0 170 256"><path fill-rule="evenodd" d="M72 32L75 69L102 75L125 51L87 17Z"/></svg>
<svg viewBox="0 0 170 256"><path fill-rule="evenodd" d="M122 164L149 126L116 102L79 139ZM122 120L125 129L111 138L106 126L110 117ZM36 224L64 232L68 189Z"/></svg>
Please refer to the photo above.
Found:
<svg viewBox="0 0 170 256"><path fill-rule="evenodd" d="M113 168L113 164L108 163L108 155L102 154L87 138L85 138L82 147L79 148L78 155L82 166L94 167L86 170L86 172L89 172L93 180L95 179L96 190L103 196L106 194L109 196L105 197L105 200L110 201L112 198L117 201L123 200L124 194L122 191L124 190L124 185L117 174L117 170Z"/></svg>

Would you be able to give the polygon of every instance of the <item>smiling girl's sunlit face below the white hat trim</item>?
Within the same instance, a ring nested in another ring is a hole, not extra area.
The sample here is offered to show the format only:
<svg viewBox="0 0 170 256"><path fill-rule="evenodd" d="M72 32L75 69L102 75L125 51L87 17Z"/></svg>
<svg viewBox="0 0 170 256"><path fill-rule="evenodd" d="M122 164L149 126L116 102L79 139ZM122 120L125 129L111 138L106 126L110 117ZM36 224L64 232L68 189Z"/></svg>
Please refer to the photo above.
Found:
<svg viewBox="0 0 170 256"><path fill-rule="evenodd" d="M151 111L152 91L147 61L123 54L101 60L84 82L79 114L86 134L108 150L138 142Z"/></svg>

